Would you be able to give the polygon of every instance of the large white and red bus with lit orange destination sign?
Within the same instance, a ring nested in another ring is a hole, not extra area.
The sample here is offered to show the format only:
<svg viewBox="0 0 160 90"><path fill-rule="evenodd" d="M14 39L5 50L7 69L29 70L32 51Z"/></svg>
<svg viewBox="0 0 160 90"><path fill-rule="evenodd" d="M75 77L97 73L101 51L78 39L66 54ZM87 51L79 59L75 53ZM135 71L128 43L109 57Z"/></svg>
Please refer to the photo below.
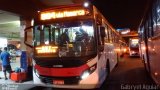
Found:
<svg viewBox="0 0 160 90"><path fill-rule="evenodd" d="M39 11L33 26L25 29L24 40L33 50L34 83L56 88L100 87L118 63L119 37L91 3Z"/></svg>

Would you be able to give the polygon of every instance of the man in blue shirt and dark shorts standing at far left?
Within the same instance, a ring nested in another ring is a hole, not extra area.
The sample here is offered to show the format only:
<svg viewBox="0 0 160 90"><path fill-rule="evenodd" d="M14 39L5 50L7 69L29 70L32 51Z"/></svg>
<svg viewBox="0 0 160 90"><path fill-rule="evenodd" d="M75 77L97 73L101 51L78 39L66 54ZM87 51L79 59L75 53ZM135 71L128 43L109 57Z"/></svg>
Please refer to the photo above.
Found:
<svg viewBox="0 0 160 90"><path fill-rule="evenodd" d="M9 78L11 75L11 65L10 65L10 54L7 52L7 47L4 48L4 51L1 53L0 58L2 60L2 68L5 76L5 80L7 80L7 74L9 73Z"/></svg>

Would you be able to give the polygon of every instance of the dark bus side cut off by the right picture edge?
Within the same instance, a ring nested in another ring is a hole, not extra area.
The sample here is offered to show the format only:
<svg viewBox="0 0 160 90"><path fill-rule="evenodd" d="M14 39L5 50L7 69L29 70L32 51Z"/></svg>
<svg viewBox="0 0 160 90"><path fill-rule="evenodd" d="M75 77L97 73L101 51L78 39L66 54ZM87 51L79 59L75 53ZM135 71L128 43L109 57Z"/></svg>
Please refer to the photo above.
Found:
<svg viewBox="0 0 160 90"><path fill-rule="evenodd" d="M149 75L160 85L160 0L149 2L145 12L138 31L140 56Z"/></svg>

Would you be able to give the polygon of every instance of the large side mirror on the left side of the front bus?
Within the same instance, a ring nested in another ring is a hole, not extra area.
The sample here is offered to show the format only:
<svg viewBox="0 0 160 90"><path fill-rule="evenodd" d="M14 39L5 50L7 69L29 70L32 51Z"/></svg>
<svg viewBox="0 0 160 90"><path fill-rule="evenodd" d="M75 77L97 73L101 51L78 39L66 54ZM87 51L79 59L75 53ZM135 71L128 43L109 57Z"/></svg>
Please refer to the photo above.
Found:
<svg viewBox="0 0 160 90"><path fill-rule="evenodd" d="M33 47L33 26L28 27L24 30L24 44L29 46L29 47Z"/></svg>

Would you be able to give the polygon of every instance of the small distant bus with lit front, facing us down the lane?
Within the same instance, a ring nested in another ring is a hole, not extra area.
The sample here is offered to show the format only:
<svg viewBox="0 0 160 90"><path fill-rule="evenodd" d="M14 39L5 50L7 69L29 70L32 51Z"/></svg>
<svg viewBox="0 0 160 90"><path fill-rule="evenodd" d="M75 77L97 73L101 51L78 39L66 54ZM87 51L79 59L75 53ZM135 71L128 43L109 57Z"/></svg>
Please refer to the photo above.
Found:
<svg viewBox="0 0 160 90"><path fill-rule="evenodd" d="M129 56L139 56L138 37L132 37L129 39Z"/></svg>

